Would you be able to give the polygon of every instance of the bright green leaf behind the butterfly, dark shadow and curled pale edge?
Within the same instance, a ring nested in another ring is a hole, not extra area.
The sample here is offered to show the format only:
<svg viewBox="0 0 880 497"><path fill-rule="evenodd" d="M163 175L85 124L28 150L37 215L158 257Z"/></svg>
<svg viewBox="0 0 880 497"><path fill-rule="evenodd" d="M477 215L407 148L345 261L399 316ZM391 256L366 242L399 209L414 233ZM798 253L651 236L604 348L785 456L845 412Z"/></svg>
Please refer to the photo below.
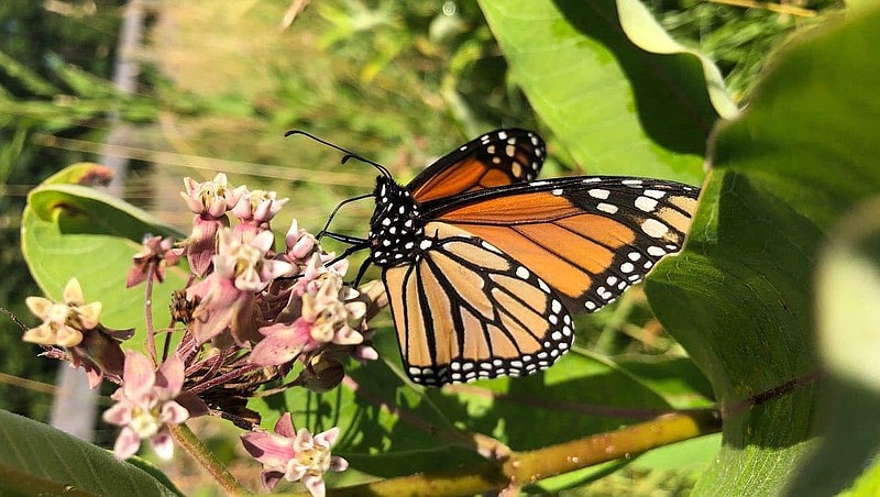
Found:
<svg viewBox="0 0 880 497"><path fill-rule="evenodd" d="M482 0L510 73L591 174L697 184L717 117L718 69L672 41L637 0Z"/></svg>

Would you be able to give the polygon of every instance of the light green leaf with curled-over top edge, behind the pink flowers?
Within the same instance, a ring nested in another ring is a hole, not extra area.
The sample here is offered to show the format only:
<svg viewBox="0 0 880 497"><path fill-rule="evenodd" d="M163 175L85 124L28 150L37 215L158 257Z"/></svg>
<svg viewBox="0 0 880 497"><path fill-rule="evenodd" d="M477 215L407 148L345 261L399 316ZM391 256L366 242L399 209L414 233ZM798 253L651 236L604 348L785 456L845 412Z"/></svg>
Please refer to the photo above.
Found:
<svg viewBox="0 0 880 497"><path fill-rule="evenodd" d="M183 239L147 212L90 187L65 184L102 172L76 165L54 175L28 196L22 213L22 254L36 283L55 300L72 277L79 279L86 300L103 302L101 322L110 328L136 328L131 343L145 336L144 286L125 288L132 256L144 234ZM184 288L185 266L169 267L164 284L153 287L153 322L170 322L172 290Z"/></svg>

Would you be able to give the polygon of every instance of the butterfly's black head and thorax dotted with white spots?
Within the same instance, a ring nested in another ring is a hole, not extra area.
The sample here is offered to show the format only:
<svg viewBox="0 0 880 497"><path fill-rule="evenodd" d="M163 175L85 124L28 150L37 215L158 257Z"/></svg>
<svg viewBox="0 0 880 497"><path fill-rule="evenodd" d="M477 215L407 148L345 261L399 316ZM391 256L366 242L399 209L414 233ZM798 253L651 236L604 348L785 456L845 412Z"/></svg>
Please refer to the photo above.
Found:
<svg viewBox="0 0 880 497"><path fill-rule="evenodd" d="M370 220L370 250L373 263L391 267L409 263L425 238L419 203L411 194L386 176L376 178L376 209Z"/></svg>

